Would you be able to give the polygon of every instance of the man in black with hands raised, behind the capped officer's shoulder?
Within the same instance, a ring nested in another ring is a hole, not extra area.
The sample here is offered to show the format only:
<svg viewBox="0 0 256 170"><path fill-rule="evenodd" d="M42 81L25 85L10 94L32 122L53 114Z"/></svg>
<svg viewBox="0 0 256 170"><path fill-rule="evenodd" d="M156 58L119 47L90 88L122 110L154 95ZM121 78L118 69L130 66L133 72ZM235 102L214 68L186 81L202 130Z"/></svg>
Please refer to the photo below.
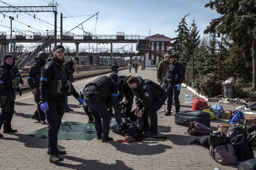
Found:
<svg viewBox="0 0 256 170"><path fill-rule="evenodd" d="M69 60L65 61L65 63L63 64L69 72L70 83L75 82L73 73L78 70L78 66L76 66L76 64L79 64L79 58L78 57L74 57L73 59L69 59ZM75 68L73 68L73 65L75 65ZM68 96L66 96L65 106L66 106L65 112L74 111L73 109L69 108Z"/></svg>

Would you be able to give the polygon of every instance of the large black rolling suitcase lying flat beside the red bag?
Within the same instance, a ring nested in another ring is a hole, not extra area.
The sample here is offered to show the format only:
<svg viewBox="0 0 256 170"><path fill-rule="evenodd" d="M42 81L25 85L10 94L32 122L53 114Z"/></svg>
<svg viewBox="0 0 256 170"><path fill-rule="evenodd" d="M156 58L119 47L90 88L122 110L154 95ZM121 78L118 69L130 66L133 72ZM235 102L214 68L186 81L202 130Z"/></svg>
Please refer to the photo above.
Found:
<svg viewBox="0 0 256 170"><path fill-rule="evenodd" d="M175 124L189 127L190 122L196 121L210 127L210 114L204 111L184 110L175 115Z"/></svg>

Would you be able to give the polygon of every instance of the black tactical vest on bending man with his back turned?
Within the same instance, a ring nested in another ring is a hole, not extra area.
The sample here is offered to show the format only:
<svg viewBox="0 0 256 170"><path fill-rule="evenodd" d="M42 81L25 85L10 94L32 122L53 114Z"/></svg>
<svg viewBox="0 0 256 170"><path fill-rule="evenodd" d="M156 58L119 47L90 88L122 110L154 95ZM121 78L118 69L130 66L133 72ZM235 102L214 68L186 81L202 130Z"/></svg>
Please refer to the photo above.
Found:
<svg viewBox="0 0 256 170"><path fill-rule="evenodd" d="M97 87L97 90L103 94L103 100L106 101L110 97L110 90L108 87L107 80L112 80L108 76L100 76L92 82L88 83L87 86L94 85Z"/></svg>

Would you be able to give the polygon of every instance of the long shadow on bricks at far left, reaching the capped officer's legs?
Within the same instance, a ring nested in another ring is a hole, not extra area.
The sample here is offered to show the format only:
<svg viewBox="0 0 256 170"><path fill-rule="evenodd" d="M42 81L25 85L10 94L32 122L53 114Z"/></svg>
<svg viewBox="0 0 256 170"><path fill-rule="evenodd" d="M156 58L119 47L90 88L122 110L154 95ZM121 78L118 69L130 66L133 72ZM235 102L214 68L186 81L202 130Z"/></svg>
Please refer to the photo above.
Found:
<svg viewBox="0 0 256 170"><path fill-rule="evenodd" d="M27 148L48 148L48 139L34 138L30 135L19 134L19 133L9 133L9 135L17 136L18 138L1 138L2 140L8 141L19 141L24 143ZM58 145L59 149L65 149L64 147Z"/></svg>

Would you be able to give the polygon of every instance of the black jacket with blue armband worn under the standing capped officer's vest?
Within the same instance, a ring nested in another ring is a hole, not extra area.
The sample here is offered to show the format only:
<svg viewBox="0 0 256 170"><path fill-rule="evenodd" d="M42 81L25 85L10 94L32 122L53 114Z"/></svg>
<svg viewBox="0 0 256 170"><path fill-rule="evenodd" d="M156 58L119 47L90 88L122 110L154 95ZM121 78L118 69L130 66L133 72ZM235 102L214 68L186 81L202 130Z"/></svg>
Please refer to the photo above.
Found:
<svg viewBox="0 0 256 170"><path fill-rule="evenodd" d="M64 62L58 61L55 58L52 58L52 62L58 67L59 70L62 70L62 68L65 70L67 79L69 80L68 76L68 71L66 70L66 67L62 67ZM45 66L47 65L47 68ZM46 64L42 68L42 74L41 74L41 79L40 79L40 99L42 103L46 101L56 101L56 100L66 100L66 96L54 96L50 93L47 93L47 84L49 80L54 80L55 79L55 71L54 67L51 66L51 64ZM76 92L74 89L72 83L71 85L71 91L73 90L73 96L77 99L79 97L79 94Z"/></svg>

